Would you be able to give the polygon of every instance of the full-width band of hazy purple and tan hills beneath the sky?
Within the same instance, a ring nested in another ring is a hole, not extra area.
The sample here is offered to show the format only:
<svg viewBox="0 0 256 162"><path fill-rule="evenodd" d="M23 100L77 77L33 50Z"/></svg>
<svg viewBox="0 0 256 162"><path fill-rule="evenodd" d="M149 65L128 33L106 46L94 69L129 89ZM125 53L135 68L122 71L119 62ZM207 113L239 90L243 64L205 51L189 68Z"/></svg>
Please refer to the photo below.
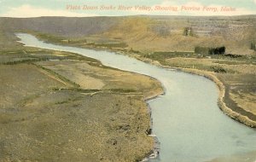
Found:
<svg viewBox="0 0 256 162"><path fill-rule="evenodd" d="M0 18L4 33L43 32L68 38L116 40L138 50L193 51L224 45L228 53L253 54L256 15Z"/></svg>

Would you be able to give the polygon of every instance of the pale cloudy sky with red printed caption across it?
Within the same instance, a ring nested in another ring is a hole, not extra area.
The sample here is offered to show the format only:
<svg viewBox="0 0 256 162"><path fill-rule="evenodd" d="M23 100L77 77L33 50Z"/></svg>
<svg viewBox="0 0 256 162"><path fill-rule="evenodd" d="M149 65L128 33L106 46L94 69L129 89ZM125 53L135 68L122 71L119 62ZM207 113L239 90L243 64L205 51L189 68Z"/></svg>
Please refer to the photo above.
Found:
<svg viewBox="0 0 256 162"><path fill-rule="evenodd" d="M256 0L0 0L0 17L256 14Z"/></svg>

